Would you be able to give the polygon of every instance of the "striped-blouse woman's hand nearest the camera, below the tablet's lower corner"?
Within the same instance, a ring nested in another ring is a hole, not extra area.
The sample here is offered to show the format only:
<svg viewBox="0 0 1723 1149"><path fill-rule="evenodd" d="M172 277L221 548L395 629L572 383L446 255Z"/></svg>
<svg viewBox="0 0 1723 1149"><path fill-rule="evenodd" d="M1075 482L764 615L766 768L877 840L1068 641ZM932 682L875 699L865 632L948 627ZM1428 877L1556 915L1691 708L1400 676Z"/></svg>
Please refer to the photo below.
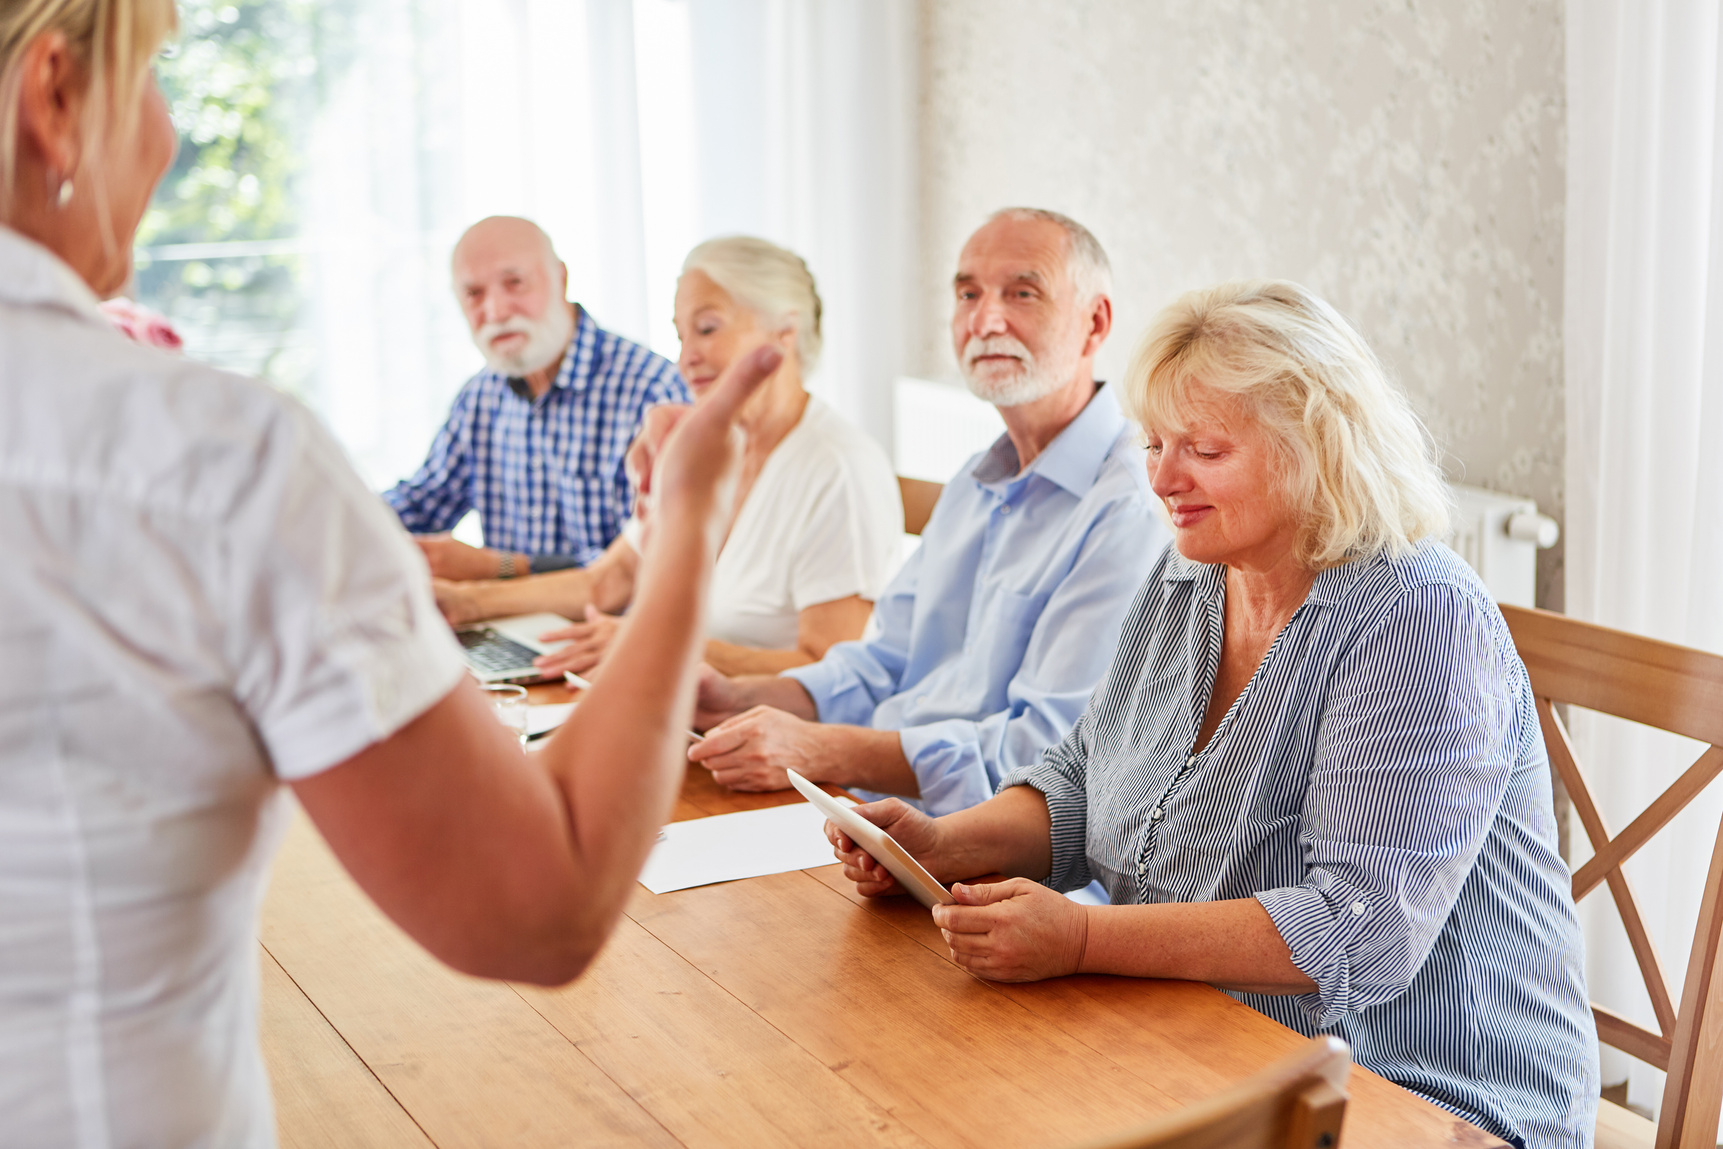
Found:
<svg viewBox="0 0 1723 1149"><path fill-rule="evenodd" d="M1039 982L1082 968L1089 913L1070 897L1029 879L960 884L951 896L958 904L934 906L934 925L946 935L951 960L970 973Z"/></svg>

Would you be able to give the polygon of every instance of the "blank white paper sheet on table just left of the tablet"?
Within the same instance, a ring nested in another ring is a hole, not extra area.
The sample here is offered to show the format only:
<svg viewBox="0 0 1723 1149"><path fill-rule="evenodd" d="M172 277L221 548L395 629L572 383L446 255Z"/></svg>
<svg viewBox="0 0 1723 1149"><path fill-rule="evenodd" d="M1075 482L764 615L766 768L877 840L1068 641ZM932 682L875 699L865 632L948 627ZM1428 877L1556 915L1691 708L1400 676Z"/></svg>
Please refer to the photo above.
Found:
<svg viewBox="0 0 1723 1149"><path fill-rule="evenodd" d="M855 803L843 801L846 806ZM641 885L655 894L834 865L825 815L808 803L672 822L646 856Z"/></svg>

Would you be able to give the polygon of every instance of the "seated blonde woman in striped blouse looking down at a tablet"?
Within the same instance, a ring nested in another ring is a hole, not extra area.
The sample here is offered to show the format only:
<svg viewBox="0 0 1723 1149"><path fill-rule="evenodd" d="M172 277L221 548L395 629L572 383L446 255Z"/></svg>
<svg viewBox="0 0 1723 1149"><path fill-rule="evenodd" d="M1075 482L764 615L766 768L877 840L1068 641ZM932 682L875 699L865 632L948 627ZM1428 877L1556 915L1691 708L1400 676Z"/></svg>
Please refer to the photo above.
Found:
<svg viewBox="0 0 1723 1149"><path fill-rule="evenodd" d="M1070 737L991 801L862 813L956 885L982 977L1203 980L1527 1146L1597 1044L1525 667L1406 400L1289 283L1196 291L1125 381L1173 548ZM865 894L889 875L827 827ZM1032 879L1032 880L1029 880ZM1111 906L1058 889L1099 879Z"/></svg>

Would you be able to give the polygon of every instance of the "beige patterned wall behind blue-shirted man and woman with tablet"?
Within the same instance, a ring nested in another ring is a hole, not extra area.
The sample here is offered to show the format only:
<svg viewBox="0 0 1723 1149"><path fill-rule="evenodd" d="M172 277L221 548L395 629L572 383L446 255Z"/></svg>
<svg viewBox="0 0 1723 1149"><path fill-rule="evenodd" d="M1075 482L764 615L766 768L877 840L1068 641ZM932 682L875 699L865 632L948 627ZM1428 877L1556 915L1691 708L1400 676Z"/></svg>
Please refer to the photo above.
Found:
<svg viewBox="0 0 1723 1149"><path fill-rule="evenodd" d="M1118 377L1185 288L1297 279L1401 379L1458 482L1561 517L1561 0L924 0L918 374L963 238L1087 224ZM1559 553L1540 562L1559 606Z"/></svg>

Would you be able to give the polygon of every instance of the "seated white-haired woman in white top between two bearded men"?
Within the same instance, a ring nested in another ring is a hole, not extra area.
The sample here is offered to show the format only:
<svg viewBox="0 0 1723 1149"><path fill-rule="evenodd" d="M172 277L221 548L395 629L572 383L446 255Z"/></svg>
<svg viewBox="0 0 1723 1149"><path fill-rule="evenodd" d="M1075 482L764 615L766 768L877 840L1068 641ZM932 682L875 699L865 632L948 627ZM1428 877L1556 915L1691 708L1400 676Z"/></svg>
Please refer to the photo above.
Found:
<svg viewBox="0 0 1723 1149"><path fill-rule="evenodd" d="M820 296L801 257L751 236L701 243L675 286L677 367L696 403L739 355L772 345L784 362L743 408L736 522L712 584L706 661L724 674L775 674L862 637L903 537L903 500L886 451L810 396ZM634 598L639 520L584 570L531 579L438 582L450 622L550 610L577 618L546 641L546 674L584 672L610 648Z"/></svg>

